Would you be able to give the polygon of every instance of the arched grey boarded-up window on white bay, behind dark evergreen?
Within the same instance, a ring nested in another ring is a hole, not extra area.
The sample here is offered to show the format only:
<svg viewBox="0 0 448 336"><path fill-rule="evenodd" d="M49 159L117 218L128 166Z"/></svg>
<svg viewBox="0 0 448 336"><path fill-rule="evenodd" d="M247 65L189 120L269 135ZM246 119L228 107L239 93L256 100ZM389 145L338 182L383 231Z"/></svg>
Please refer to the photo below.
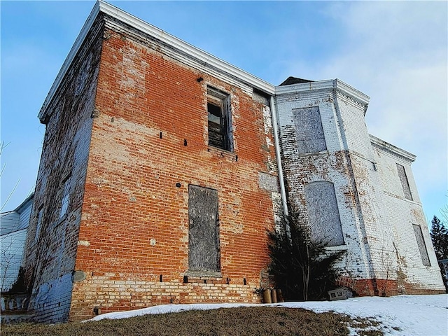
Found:
<svg viewBox="0 0 448 336"><path fill-rule="evenodd" d="M312 182L305 186L305 199L313 241L324 241L328 246L344 244L339 210L333 183Z"/></svg>

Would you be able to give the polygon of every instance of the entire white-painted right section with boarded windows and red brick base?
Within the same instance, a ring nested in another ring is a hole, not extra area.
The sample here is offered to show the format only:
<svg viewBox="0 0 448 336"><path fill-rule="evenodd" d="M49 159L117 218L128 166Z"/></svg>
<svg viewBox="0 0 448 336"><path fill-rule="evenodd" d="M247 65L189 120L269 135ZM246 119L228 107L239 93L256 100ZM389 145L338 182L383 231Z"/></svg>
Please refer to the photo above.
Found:
<svg viewBox="0 0 448 336"><path fill-rule="evenodd" d="M444 293L415 157L368 134L368 101L339 80L276 88L288 204L346 251L339 281L356 294Z"/></svg>

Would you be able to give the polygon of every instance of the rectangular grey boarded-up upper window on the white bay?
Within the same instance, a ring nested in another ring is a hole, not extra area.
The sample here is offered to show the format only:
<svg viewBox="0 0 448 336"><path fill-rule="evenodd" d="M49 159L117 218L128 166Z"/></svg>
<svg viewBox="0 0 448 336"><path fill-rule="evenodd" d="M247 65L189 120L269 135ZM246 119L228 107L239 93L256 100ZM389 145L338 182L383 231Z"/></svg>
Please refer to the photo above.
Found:
<svg viewBox="0 0 448 336"><path fill-rule="evenodd" d="M317 153L327 149L318 106L293 109L293 120L299 154Z"/></svg>

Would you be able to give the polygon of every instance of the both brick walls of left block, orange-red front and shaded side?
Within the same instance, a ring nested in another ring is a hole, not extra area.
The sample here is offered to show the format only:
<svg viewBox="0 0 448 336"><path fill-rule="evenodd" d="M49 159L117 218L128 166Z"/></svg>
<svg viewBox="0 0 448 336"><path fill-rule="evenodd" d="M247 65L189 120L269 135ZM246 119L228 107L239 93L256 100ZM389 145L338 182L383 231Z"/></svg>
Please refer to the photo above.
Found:
<svg viewBox="0 0 448 336"><path fill-rule="evenodd" d="M101 12L61 83L39 115L45 217L27 246L36 319L260 302L279 199L269 94ZM208 144L208 87L230 96L232 151ZM189 269L189 186L217 190L218 272Z"/></svg>

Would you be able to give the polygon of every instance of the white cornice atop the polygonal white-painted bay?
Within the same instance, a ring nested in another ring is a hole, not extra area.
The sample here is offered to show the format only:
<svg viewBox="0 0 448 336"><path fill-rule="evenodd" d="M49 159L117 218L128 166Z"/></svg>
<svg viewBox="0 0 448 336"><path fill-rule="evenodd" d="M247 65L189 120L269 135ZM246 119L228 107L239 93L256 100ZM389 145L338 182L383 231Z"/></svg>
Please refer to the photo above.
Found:
<svg viewBox="0 0 448 336"><path fill-rule="evenodd" d="M351 87L339 79L318 80L316 82L276 86L275 94L294 94L299 92L318 92L328 90L336 90L336 92L341 92L347 97L350 97L359 104L363 104L365 106L367 106L370 101L370 97L367 96L367 94L363 94L363 92L356 90L354 87Z"/></svg>

